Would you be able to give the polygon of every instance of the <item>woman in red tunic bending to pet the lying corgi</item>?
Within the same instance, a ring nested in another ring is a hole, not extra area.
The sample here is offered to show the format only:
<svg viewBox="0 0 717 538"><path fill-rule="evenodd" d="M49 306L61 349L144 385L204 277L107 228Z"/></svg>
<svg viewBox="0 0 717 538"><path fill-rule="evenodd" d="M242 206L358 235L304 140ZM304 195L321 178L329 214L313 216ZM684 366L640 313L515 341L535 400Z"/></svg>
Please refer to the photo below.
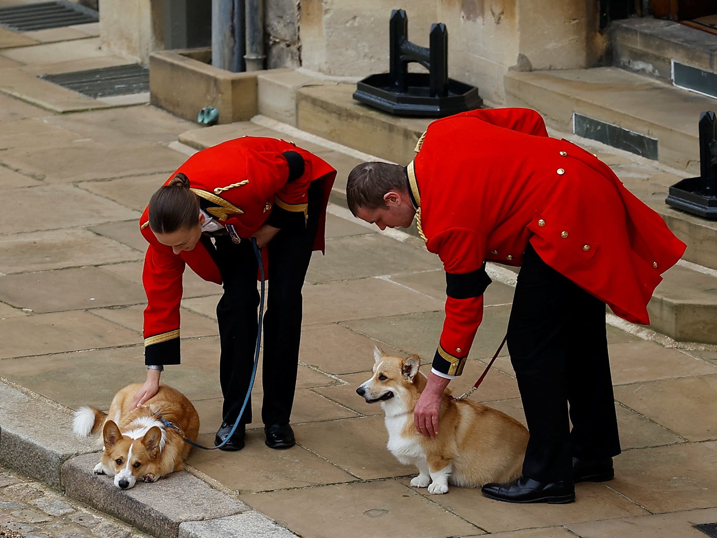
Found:
<svg viewBox="0 0 717 538"><path fill-rule="evenodd" d="M167 364L179 364L179 306L185 265L222 284L217 305L223 422L231 430L247 394L257 336L257 259L263 249L271 289L264 320L262 421L271 448L294 445L289 425L298 369L301 287L313 250L323 250L326 205L336 170L293 143L245 136L199 151L153 194L141 220L149 242L143 284L147 381L141 405L158 391ZM270 266L270 267L269 267ZM222 450L244 447L251 402Z"/></svg>

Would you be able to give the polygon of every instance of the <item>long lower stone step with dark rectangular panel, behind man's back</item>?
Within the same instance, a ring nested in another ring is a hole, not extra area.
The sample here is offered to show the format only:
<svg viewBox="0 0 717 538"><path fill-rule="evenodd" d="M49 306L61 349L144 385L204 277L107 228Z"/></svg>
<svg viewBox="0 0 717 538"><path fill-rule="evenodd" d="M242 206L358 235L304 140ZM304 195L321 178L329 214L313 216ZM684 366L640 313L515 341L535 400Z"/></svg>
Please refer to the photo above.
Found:
<svg viewBox="0 0 717 538"><path fill-rule="evenodd" d="M698 121L717 100L618 67L508 72L508 105L549 126L698 174ZM585 120L584 118L587 118Z"/></svg>

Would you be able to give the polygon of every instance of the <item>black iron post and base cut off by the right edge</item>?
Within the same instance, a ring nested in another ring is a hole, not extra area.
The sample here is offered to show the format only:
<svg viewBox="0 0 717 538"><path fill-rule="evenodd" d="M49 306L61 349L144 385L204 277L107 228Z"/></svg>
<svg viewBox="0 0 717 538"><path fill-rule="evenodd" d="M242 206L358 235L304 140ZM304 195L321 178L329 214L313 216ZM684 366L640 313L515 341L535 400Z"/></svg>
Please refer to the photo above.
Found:
<svg viewBox="0 0 717 538"><path fill-rule="evenodd" d="M717 219L717 115L700 114L700 176L688 177L670 187L665 202L675 209Z"/></svg>

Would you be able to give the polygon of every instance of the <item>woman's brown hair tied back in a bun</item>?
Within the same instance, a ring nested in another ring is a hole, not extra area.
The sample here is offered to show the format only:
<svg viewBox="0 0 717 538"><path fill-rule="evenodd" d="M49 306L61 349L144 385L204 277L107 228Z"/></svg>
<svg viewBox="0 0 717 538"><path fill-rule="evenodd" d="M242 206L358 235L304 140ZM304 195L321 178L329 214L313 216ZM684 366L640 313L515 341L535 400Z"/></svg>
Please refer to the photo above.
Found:
<svg viewBox="0 0 717 538"><path fill-rule="evenodd" d="M179 172L149 200L149 227L159 234L191 228L199 222L199 197L189 190L189 178Z"/></svg>

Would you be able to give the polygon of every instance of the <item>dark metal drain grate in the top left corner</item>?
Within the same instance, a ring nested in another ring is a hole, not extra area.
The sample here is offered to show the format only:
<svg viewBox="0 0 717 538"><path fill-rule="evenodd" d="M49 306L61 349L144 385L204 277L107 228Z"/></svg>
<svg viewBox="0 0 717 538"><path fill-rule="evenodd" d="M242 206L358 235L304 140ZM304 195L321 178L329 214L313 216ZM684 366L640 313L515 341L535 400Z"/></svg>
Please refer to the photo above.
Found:
<svg viewBox="0 0 717 538"><path fill-rule="evenodd" d="M99 20L97 11L62 0L0 8L0 27L15 32L58 28Z"/></svg>

